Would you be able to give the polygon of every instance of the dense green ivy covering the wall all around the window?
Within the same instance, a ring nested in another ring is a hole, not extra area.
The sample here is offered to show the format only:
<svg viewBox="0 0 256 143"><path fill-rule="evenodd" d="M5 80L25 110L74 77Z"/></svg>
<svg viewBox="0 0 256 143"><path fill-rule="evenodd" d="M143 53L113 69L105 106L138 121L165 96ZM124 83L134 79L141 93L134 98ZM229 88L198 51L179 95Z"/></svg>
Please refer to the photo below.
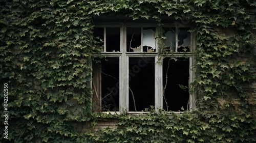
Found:
<svg viewBox="0 0 256 143"><path fill-rule="evenodd" d="M11 142L254 142L255 1L0 1L1 112L8 84ZM174 17L194 23L195 111L106 116L120 127L96 124L90 86L100 57L94 16ZM4 123L1 116L1 123ZM1 124L1 130L5 128ZM1 141L7 142L1 133Z"/></svg>

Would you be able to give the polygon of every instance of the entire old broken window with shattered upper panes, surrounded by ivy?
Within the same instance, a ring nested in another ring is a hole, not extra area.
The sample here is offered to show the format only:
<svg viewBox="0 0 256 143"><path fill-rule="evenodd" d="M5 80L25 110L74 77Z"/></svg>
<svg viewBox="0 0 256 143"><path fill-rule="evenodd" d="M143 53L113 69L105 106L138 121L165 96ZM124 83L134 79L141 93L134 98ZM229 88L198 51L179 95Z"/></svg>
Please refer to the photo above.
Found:
<svg viewBox="0 0 256 143"><path fill-rule="evenodd" d="M156 34L161 28L166 37L164 56L157 53ZM96 24L94 36L103 41L105 58L93 64L93 110L136 113L152 106L156 111L193 108L188 90L193 81L189 68L193 43L188 30L145 23Z"/></svg>

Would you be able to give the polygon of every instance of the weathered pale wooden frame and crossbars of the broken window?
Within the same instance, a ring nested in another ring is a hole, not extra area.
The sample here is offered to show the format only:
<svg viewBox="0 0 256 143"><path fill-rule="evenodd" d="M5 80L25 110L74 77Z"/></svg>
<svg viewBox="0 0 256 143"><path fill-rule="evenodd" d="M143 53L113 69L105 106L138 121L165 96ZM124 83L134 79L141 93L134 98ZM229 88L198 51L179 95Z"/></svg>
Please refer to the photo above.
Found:
<svg viewBox="0 0 256 143"><path fill-rule="evenodd" d="M148 52L130 52L126 51L126 28L127 27L156 27L156 33L158 33L158 26L156 23L143 23L143 22L100 22L95 23L95 27L104 27L104 51L101 52L103 56L106 57L118 57L119 58L119 111L117 113L145 113L142 111L129 111L129 57L155 57L155 112L159 112L159 109L163 109L163 67L162 62L163 58L168 58L169 56L175 57L184 57L187 56L189 58L189 79L188 79L188 89L191 88L190 83L194 81L194 55L193 51L195 50L195 34L193 32L190 33L190 51L186 52L178 52L177 51L177 30L179 27L175 27L173 23L164 23L161 27L172 27L176 29L176 51L168 52L164 55L160 55L159 47L158 47L158 39L156 38L156 51L152 53ZM105 27L120 27L120 51L119 52L109 52L106 51L106 32ZM191 28L191 26L187 26L187 28ZM142 47L142 41L141 41ZM120 78L125 77L125 78ZM93 81L92 81L93 82ZM92 85L93 83L91 83ZM159 86L157 86L159 85ZM93 86L92 86L93 89ZM195 105L195 93L189 92L189 110L192 110L196 107ZM100 96L101 97L101 96ZM116 111L111 111L112 113Z"/></svg>

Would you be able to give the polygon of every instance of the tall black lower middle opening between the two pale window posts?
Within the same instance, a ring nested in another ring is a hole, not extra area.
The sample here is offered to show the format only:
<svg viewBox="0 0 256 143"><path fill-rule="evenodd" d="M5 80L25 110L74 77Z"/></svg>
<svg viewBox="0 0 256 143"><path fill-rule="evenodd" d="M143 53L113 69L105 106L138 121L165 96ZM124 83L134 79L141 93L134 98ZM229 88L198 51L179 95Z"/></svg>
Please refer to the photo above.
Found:
<svg viewBox="0 0 256 143"><path fill-rule="evenodd" d="M155 105L155 58L129 58L129 110Z"/></svg>

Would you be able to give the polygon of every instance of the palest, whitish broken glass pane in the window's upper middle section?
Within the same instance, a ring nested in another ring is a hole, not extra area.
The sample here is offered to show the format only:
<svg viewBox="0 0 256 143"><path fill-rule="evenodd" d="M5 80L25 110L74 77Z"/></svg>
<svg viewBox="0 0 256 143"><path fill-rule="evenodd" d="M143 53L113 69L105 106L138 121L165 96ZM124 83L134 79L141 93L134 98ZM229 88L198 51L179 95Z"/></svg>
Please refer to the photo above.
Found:
<svg viewBox="0 0 256 143"><path fill-rule="evenodd" d="M143 51L154 52L156 51L156 40L155 40L156 28L143 28Z"/></svg>

